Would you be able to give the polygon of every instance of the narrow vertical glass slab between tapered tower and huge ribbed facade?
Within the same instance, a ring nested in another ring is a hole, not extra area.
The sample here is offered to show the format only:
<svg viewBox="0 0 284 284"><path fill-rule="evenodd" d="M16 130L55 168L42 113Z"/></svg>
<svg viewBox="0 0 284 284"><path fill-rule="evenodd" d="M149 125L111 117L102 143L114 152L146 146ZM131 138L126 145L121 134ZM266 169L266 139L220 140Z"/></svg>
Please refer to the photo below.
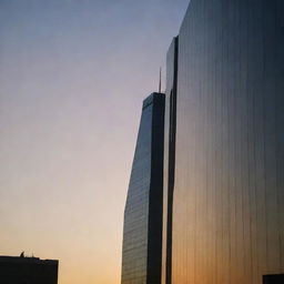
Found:
<svg viewBox="0 0 284 284"><path fill-rule="evenodd" d="M172 270L172 210L175 159L178 48L179 38L174 38L166 54L162 283L170 283Z"/></svg>

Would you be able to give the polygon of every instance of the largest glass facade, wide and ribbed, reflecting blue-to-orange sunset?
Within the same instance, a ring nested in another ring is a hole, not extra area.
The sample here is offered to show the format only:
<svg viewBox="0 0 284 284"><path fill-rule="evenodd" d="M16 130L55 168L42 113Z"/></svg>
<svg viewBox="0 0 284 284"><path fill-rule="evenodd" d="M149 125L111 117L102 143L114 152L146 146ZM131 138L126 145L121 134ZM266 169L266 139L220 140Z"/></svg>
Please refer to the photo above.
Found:
<svg viewBox="0 0 284 284"><path fill-rule="evenodd" d="M172 271L163 283L261 284L283 274L284 1L191 0L176 98ZM165 149L165 175L169 156Z"/></svg>

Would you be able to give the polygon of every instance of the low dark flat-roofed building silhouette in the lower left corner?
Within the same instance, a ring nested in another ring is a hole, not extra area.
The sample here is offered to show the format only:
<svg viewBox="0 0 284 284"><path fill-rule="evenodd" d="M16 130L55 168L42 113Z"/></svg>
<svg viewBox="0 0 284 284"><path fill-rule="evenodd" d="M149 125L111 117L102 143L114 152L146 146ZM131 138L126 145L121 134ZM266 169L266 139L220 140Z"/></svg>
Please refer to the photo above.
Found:
<svg viewBox="0 0 284 284"><path fill-rule="evenodd" d="M57 284L58 261L0 256L1 284Z"/></svg>

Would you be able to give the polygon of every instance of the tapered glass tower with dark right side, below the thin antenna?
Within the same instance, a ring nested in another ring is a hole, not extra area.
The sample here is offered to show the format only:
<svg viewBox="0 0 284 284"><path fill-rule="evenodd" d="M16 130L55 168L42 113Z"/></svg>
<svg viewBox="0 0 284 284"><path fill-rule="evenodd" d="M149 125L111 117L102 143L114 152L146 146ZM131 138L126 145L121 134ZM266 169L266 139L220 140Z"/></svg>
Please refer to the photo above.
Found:
<svg viewBox="0 0 284 284"><path fill-rule="evenodd" d="M122 284L161 282L164 94L143 102L124 211Z"/></svg>

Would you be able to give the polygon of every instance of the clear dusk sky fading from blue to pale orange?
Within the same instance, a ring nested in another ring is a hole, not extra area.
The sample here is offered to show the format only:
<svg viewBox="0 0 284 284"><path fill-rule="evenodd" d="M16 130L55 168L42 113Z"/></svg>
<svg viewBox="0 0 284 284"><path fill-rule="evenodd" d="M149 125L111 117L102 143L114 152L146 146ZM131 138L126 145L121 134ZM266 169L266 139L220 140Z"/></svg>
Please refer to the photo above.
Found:
<svg viewBox="0 0 284 284"><path fill-rule="evenodd" d="M0 0L0 254L120 283L142 100L189 0Z"/></svg>

